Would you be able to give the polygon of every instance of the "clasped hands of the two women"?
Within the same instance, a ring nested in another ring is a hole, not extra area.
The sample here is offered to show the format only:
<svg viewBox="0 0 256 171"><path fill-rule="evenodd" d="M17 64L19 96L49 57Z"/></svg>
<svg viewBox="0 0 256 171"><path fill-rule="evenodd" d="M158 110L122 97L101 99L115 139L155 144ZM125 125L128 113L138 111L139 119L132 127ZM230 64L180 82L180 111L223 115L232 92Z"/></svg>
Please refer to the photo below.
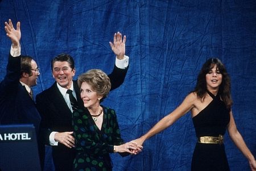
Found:
<svg viewBox="0 0 256 171"><path fill-rule="evenodd" d="M118 153L124 153L124 152L128 152L131 155L137 155L139 152L142 151L142 146L141 145L137 145L137 143L130 141L129 143L125 143L122 145L114 145L114 152L118 152Z"/></svg>

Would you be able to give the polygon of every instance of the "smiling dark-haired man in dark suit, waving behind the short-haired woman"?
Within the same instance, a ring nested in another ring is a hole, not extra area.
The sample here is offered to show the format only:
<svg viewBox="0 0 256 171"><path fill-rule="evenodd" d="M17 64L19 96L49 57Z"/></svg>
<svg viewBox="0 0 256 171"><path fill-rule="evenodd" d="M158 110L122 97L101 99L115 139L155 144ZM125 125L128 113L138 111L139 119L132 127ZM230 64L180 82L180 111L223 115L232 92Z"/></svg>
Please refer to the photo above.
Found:
<svg viewBox="0 0 256 171"><path fill-rule="evenodd" d="M129 57L125 56L125 41L126 36L122 39L122 35L117 32L114 34L113 43L110 42L117 56L113 72L108 75L112 90L122 84L127 73ZM77 107L84 108L77 81L73 80L75 73L73 58L67 54L58 55L52 60L52 75L56 82L49 89L36 95L36 106L42 117L44 143L52 145L56 171L72 170L75 159L72 112Z"/></svg>

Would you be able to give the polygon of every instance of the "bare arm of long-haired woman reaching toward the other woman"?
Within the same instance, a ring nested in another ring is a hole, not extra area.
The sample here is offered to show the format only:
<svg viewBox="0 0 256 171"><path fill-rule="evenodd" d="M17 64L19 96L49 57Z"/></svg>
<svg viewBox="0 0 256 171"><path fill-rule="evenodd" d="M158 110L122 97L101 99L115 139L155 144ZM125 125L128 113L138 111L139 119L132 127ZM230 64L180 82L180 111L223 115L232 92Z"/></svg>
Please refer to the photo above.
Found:
<svg viewBox="0 0 256 171"><path fill-rule="evenodd" d="M193 102L195 101L196 95L191 93L187 95L184 101L179 107L177 107L170 114L161 119L154 127L151 128L146 134L141 136L139 139L134 140L138 145L142 145L145 140L149 139L151 136L158 134L159 132L165 130L167 127L170 127L177 119L185 115L193 107Z"/></svg>

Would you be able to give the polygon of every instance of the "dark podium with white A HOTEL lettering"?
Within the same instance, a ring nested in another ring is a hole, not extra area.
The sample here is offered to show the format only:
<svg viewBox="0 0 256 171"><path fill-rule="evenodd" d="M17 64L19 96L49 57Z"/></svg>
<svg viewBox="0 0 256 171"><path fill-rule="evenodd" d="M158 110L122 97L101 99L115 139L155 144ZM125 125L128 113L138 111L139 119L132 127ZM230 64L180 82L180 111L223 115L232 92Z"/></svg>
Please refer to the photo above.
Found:
<svg viewBox="0 0 256 171"><path fill-rule="evenodd" d="M36 132L32 124L0 125L0 170L40 170Z"/></svg>

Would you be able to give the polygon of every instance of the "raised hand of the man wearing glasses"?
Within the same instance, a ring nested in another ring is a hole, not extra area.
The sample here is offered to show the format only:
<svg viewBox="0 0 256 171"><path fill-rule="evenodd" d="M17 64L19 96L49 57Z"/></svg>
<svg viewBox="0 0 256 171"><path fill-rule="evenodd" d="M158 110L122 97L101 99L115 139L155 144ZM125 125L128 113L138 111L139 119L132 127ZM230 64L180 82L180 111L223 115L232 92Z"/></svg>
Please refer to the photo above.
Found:
<svg viewBox="0 0 256 171"><path fill-rule="evenodd" d="M20 22L17 22L15 30L15 28L13 27L13 23L11 22L11 19L9 19L9 23L5 22L5 31L6 35L11 39L13 47L19 47L19 40L21 37Z"/></svg>

